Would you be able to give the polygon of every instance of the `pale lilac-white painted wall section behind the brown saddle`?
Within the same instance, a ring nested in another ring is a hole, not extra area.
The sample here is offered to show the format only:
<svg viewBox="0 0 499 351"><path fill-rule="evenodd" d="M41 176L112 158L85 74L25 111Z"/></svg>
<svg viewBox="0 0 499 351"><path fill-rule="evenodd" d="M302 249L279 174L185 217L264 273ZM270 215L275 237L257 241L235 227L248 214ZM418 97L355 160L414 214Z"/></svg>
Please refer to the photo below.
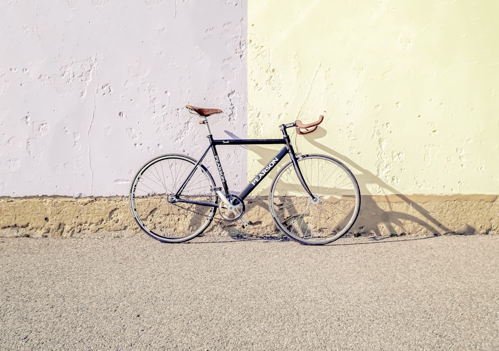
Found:
<svg viewBox="0 0 499 351"><path fill-rule="evenodd" d="M1 1L0 196L125 195L152 157L204 150L187 103L224 110L216 137L246 137L246 7ZM244 185L244 149L221 155Z"/></svg>

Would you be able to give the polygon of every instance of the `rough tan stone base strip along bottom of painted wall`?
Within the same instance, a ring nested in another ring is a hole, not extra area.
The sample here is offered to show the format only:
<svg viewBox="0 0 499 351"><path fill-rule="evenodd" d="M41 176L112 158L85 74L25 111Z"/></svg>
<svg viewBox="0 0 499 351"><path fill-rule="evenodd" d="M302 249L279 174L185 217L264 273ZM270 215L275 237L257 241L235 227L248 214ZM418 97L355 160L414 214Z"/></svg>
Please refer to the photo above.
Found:
<svg viewBox="0 0 499 351"><path fill-rule="evenodd" d="M267 207L267 197L246 199L253 225L243 234L280 235ZM205 235L241 229L241 223L214 220ZM498 195L362 196L353 235L499 234ZM114 233L114 234L113 234ZM128 197L0 197L0 236L74 237L141 235Z"/></svg>

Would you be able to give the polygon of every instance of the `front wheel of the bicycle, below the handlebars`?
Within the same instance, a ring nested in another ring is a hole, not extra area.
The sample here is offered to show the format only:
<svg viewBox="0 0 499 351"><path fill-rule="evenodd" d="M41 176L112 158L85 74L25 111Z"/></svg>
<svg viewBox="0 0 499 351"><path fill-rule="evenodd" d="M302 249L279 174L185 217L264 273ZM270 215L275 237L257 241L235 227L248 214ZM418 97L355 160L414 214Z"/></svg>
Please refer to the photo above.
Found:
<svg viewBox="0 0 499 351"><path fill-rule="evenodd" d="M352 172L322 155L298 160L303 178L316 199L305 191L290 162L272 182L268 204L277 227L306 245L330 243L350 229L359 214L360 190Z"/></svg>

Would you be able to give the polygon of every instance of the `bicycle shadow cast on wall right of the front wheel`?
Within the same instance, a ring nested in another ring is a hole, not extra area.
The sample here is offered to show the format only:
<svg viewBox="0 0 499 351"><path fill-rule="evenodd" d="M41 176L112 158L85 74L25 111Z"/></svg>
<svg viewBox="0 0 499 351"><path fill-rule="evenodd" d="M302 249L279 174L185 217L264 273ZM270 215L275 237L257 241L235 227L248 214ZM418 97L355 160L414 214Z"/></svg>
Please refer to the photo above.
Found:
<svg viewBox="0 0 499 351"><path fill-rule="evenodd" d="M314 133L310 133L304 136L305 140L316 148L324 151L325 153L337 158L339 161L348 164L351 168L355 169L355 177L361 188L362 200L359 216L352 227L351 231L354 235L360 235L364 233L374 234L376 236L381 235L404 235L409 233L406 229L407 223L413 222L421 227L419 231L426 230L431 234L443 234L452 232L448 227L442 224L434 216L428 212L424 207L415 203L406 195L400 194L397 189L393 186L387 184L381 180L378 176L374 175L372 172L362 168L360 165L355 163L352 159L339 154L338 152L328 148L322 143L318 142L318 139L325 137L327 131L320 126ZM408 214L405 212L393 210L393 202L390 201L387 195L379 195L377 197L384 197L385 202L388 206L388 210L385 210L379 206L375 197L369 195L367 192L367 184L375 184L381 188L391 192L393 195L398 197L401 201L410 205L410 208L416 210L424 219L418 218L415 215ZM474 231L475 228L468 226L467 231Z"/></svg>

